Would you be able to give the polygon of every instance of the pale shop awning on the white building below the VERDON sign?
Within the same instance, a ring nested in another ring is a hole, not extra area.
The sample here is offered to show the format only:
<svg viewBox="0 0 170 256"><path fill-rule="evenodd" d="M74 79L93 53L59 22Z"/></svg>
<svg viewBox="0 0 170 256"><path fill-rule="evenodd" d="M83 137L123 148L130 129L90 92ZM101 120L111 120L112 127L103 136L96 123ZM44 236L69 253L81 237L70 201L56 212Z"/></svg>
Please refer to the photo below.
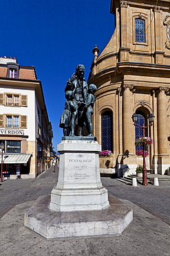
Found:
<svg viewBox="0 0 170 256"><path fill-rule="evenodd" d="M27 163L31 154L3 154L3 163ZM0 154L1 163L1 154Z"/></svg>

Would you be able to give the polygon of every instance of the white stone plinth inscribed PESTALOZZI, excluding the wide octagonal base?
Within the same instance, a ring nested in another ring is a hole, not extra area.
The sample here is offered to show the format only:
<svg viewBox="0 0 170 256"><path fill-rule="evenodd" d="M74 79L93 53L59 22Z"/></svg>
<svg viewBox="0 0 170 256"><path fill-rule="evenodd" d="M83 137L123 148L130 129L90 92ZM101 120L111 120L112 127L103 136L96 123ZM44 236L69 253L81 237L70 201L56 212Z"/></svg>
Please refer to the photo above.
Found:
<svg viewBox="0 0 170 256"><path fill-rule="evenodd" d="M109 206L107 190L100 182L100 145L82 138L62 140L58 145L59 179L51 193L51 210L103 210Z"/></svg>

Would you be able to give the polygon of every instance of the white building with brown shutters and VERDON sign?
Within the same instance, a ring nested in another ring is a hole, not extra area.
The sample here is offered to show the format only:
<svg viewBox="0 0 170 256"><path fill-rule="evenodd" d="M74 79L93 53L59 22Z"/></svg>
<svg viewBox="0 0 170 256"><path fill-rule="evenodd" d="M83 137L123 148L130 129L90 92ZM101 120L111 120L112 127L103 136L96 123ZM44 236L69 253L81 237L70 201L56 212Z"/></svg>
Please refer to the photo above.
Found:
<svg viewBox="0 0 170 256"><path fill-rule="evenodd" d="M52 125L34 66L0 57L0 145L3 172L35 178L50 167ZM1 163L1 159L0 159Z"/></svg>

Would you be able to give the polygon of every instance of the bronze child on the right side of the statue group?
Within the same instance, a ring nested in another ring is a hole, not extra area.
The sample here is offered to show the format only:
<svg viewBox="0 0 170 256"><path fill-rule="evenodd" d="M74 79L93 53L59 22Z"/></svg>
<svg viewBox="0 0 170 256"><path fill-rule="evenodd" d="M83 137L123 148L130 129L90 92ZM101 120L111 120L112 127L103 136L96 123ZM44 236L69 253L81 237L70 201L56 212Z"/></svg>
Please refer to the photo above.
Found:
<svg viewBox="0 0 170 256"><path fill-rule="evenodd" d="M96 85L95 84L89 84L89 89L87 91L87 98L85 102L85 119L86 119L86 128L89 133L88 136L92 136L92 114L94 113L93 107L94 102L96 101L96 97L94 96L94 93L96 91Z"/></svg>

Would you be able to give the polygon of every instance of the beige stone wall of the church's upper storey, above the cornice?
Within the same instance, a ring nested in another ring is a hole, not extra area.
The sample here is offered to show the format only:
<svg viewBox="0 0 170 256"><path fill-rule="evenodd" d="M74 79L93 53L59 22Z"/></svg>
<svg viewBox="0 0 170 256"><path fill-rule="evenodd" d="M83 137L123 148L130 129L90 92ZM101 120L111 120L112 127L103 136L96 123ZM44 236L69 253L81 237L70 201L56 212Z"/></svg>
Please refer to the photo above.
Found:
<svg viewBox="0 0 170 256"><path fill-rule="evenodd" d="M165 47L167 26L163 22L169 15L169 8L162 8L162 3L156 8L149 3L146 5L142 3L142 6L136 7L135 3L129 2L118 6L114 12L116 29L107 46L98 56L97 73L104 68L116 66L118 61L170 64L169 57L166 56L169 55L169 49ZM139 15L146 22L146 44L136 44L134 41L134 19ZM121 21L119 21L120 17ZM129 48L129 51L118 54L120 47ZM120 55L119 60L114 54Z"/></svg>

